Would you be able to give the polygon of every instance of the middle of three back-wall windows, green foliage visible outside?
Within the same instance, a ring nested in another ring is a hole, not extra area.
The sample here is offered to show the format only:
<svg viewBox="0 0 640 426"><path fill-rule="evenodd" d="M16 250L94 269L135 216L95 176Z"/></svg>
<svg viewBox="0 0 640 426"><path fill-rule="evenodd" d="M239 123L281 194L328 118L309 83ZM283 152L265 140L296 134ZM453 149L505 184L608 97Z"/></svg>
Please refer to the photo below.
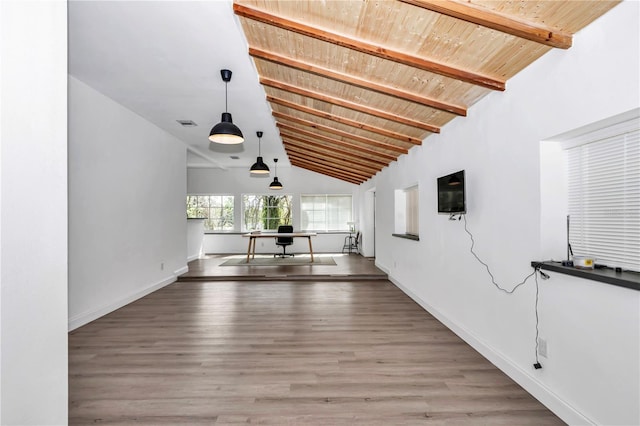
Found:
<svg viewBox="0 0 640 426"><path fill-rule="evenodd" d="M277 230L279 225L291 225L291 198L291 195L243 195L243 231Z"/></svg>

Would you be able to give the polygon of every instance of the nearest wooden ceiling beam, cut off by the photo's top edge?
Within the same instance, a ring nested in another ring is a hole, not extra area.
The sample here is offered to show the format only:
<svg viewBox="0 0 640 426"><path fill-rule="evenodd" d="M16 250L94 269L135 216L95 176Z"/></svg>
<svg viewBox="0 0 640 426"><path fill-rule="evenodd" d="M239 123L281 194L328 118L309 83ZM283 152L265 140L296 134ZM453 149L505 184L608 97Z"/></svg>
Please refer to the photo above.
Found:
<svg viewBox="0 0 640 426"><path fill-rule="evenodd" d="M519 19L495 12L486 7L475 5L471 2L456 0L400 0L433 12L481 25L492 30L500 31L512 36L520 37L536 43L545 44L560 49L571 47L571 34L550 28L537 22Z"/></svg>

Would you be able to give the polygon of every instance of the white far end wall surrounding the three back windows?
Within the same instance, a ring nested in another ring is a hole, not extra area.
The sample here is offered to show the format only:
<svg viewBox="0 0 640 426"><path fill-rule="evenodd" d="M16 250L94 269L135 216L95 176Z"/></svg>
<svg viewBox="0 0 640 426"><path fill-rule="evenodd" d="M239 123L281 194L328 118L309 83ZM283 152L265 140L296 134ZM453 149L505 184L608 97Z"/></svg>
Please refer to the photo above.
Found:
<svg viewBox="0 0 640 426"><path fill-rule="evenodd" d="M241 168L203 169L190 168L187 172L187 191L189 194L225 194L235 196L234 223L236 232L241 232L241 197L242 194L279 194L293 196L293 227L300 230L300 195L305 194L354 194L357 186L313 173L299 167L278 166L278 180L284 188L279 191L269 190L273 180L273 171L268 177L250 176L249 170ZM358 217L358 204L355 203L353 217ZM357 226L357 225L356 225ZM347 234L320 234L313 238L313 251L318 253L335 253L342 250L344 237ZM204 237L205 253L246 253L248 241L237 234L206 234ZM272 241L258 241L256 253L274 253L281 251ZM294 240L287 252L307 253L309 246L304 238Z"/></svg>

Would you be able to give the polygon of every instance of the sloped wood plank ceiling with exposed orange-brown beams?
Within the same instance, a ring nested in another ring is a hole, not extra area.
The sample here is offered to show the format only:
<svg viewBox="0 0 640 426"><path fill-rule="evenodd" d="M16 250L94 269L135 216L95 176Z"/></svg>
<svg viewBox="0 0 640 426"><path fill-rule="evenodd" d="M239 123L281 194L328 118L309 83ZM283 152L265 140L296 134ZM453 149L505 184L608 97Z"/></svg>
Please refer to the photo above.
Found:
<svg viewBox="0 0 640 426"><path fill-rule="evenodd" d="M360 184L617 3L236 0L234 12L291 164Z"/></svg>

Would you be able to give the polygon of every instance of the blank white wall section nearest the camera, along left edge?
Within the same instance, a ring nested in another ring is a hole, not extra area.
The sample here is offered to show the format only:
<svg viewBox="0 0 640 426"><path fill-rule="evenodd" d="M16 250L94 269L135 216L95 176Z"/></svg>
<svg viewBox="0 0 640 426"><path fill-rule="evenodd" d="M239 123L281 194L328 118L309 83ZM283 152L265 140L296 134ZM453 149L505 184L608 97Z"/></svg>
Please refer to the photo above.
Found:
<svg viewBox="0 0 640 426"><path fill-rule="evenodd" d="M0 423L67 422L67 7L0 2Z"/></svg>

